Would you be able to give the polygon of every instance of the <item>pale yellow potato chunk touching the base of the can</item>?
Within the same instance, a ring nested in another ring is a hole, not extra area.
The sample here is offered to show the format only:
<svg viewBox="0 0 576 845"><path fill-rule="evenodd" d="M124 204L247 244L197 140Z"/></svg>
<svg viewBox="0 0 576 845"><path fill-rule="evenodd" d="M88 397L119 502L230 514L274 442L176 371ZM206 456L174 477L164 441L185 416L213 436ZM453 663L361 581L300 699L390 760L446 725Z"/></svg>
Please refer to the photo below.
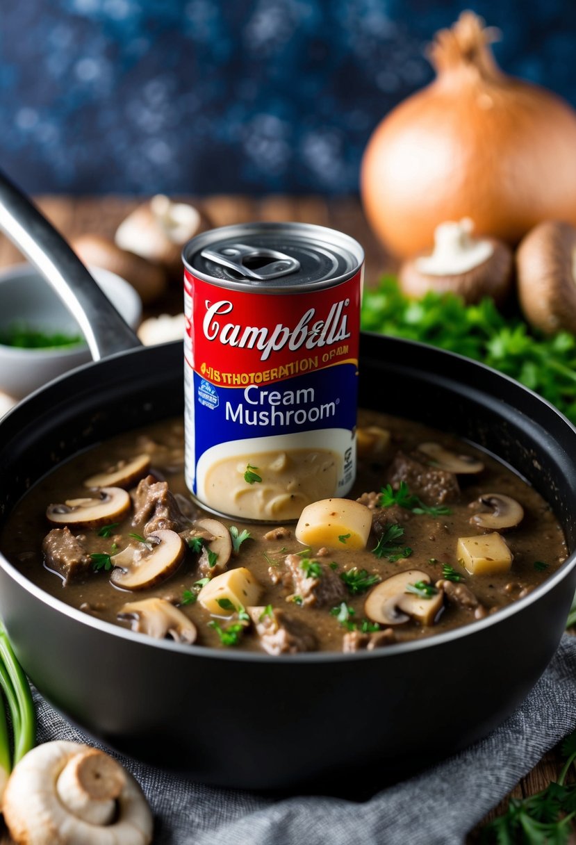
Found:
<svg viewBox="0 0 576 845"><path fill-rule="evenodd" d="M307 546L366 548L372 510L352 499L321 499L308 504L298 520L296 539Z"/></svg>

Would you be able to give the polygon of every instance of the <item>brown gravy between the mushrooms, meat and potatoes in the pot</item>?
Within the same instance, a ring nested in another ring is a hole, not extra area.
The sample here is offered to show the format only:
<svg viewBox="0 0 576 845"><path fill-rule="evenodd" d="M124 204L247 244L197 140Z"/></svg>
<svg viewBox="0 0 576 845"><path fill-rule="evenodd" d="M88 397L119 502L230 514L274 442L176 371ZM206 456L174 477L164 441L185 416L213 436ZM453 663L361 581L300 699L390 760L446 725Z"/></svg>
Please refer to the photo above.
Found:
<svg viewBox="0 0 576 845"><path fill-rule="evenodd" d="M497 463L490 456L475 450L469 444L462 444L443 433L416 423L407 423L394 417L384 416L376 412L360 412L361 425L379 425L392 432L392 452L401 448L410 453L419 443L436 440L448 447L469 455L479 455L486 468L479 476L460 477L461 497L457 504L451 504L451 514L437 518L427 515L406 514L405 537L402 543L410 546L413 553L408 559L391 563L388 559L377 559L370 551L376 545L376 539L368 542L367 550L351 551L344 546L329 550L329 556L322 558L322 563L338 564L337 572L349 570L352 566L366 569L370 573L378 574L382 579L394 575L399 570L418 569L430 575L432 583L442 577L442 564L457 565L455 560L456 539L459 536L468 537L481 531L470 526L469 503L477 499L481 493L505 493L517 499L524 507L524 520L519 527L505 532L504 536L509 548L514 553L512 570L504 575L466 575L465 584L476 597L485 605L489 612L514 602L522 591L530 590L540 584L566 559L567 550L562 530L557 523L552 510L535 492L519 477L510 472L507 467ZM52 502L61 502L76 496L86 494L83 481L95 472L105 470L121 458L138 455L143 449L152 452L152 466L157 468L158 475L166 478L173 493L187 494L182 468L182 437L183 428L180 421L158 423L137 433L118 436L105 444L77 455L65 465L57 468L51 475L35 485L30 493L15 508L14 513L3 529L1 542L3 553L18 566L24 575L41 586L53 596L67 602L75 608L84 607L97 619L105 619L117 623L117 612L125 602L138 601L151 596L169 598L172 602L179 602L184 591L190 589L198 574L198 556L188 552L184 562L167 581L155 589L139 591L121 591L111 586L110 574L105 571L90 571L84 581L70 582L62 586L61 578L46 570L42 562L42 538L50 530L46 523L46 506ZM360 496L366 491L378 491L385 483L387 460L374 456L372 460L360 460L358 477L351 498ZM198 510L198 517L203 515ZM294 537L294 526L291 537L280 541L266 540L264 534L269 532L270 525L256 523L242 524L238 521L228 521L228 525L236 524L240 529L247 528L252 538L242 544L240 553L233 559L231 565L246 566L264 587L260 604L271 604L274 608L282 608L291 615L305 621L318 636L318 647L322 650L340 651L345 628L329 613L329 608L317 609L298 607L292 602L286 602L286 596L291 590L285 586L273 586L269 578L270 561L283 564L286 553L302 551L302 545ZM130 517L117 528L116 534L122 535L128 542L130 532L139 532L141 527L133 526ZM98 537L94 530L78 530L85 537L90 535L90 550L93 552L109 553L111 538ZM123 548L122 545L120 548ZM312 549L309 557L313 558L318 549ZM432 562L436 561L436 563ZM535 569L535 562L546 564L546 570ZM461 571L461 570L460 570ZM366 594L348 596L347 604L354 608L354 619L364 619L363 605ZM209 613L198 602L182 606L186 613L198 627L197 644L201 646L223 647L215 632L208 627L211 619ZM222 621L222 620L220 620ZM454 608L445 602L445 608L437 623L430 627L421 627L416 622L396 625L394 633L396 641L419 639L434 633L455 628L462 624L470 624L474 618L469 611ZM128 622L117 623L128 627ZM258 637L248 631L242 637L242 648L259 650Z"/></svg>

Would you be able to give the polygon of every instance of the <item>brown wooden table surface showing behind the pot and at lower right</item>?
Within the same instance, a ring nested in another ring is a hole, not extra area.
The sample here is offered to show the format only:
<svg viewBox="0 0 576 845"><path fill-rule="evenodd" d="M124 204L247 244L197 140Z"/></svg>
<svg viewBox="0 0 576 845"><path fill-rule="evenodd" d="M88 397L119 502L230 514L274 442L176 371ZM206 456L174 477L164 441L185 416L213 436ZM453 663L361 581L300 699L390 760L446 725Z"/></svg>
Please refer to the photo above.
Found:
<svg viewBox="0 0 576 845"><path fill-rule="evenodd" d="M245 196L209 196L198 199L187 198L209 216L215 226L246 221L302 221L331 226L346 232L362 244L366 251L366 280L373 284L384 272L394 270L394 259L385 254L376 238L370 232L361 206L356 197L323 199L317 196L291 197L266 196L248 198ZM138 199L124 197L41 197L37 202L48 218L66 237L87 232L112 237L118 224L139 204ZM11 243L0 236L0 267L15 264L21 260ZM182 311L182 292L173 286L163 299L146 309L144 314L179 313ZM561 769L561 760L554 750L533 771L524 777L510 795L523 797L531 795L555 780ZM508 805L508 797L494 808L487 819L500 815ZM479 828L470 833L469 843L479 840ZM0 845L8 843L0 838Z"/></svg>

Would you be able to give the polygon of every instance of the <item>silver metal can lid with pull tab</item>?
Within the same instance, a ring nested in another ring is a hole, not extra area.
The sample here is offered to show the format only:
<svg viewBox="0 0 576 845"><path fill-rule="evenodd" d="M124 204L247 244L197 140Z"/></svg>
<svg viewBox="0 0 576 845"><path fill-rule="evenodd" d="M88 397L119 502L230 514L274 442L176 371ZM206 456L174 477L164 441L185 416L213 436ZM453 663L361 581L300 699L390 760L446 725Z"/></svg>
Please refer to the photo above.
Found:
<svg viewBox="0 0 576 845"><path fill-rule="evenodd" d="M184 265L221 287L285 293L331 287L360 269L354 238L311 223L246 223L203 232L185 245Z"/></svg>

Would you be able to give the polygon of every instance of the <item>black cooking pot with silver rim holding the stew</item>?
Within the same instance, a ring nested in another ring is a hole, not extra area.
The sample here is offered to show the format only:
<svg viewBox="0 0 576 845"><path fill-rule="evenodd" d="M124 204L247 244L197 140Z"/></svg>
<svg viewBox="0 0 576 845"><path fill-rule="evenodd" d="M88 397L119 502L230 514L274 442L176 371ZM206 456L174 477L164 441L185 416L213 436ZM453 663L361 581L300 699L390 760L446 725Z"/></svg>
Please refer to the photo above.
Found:
<svg viewBox="0 0 576 845"><path fill-rule="evenodd" d="M0 226L22 243L12 221L24 206L13 191L0 189L9 212ZM93 346L97 338L98 330ZM514 466L575 547L576 430L546 401L465 358L376 335L361 340L360 401L456 433ZM179 343L116 353L57 379L0 423L2 518L68 456L181 412ZM325 791L374 770L400 777L502 722L557 648L575 561L571 554L487 619L356 654L269 657L154 641L68 607L1 557L0 614L46 699L112 748L202 781L316 782Z"/></svg>

